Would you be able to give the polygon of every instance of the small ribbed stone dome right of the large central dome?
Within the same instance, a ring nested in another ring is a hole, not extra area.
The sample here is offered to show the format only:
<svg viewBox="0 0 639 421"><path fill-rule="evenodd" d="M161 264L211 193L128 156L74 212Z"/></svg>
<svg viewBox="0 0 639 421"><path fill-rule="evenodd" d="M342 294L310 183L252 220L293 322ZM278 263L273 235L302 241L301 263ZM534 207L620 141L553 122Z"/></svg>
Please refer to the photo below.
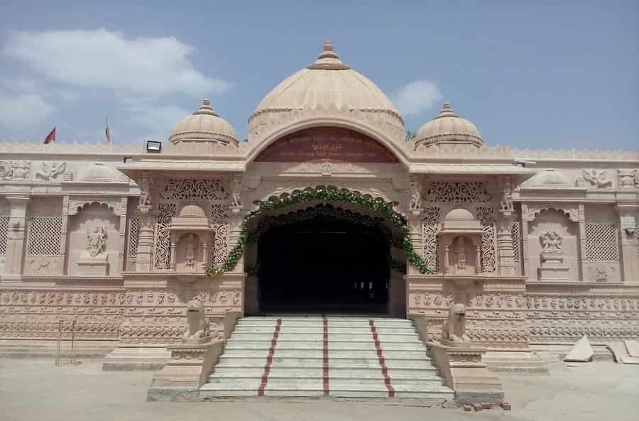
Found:
<svg viewBox="0 0 639 421"><path fill-rule="evenodd" d="M467 143L482 146L479 130L466 119L454 113L448 102L439 115L424 124L415 136L415 148L420 145L431 146L439 143Z"/></svg>

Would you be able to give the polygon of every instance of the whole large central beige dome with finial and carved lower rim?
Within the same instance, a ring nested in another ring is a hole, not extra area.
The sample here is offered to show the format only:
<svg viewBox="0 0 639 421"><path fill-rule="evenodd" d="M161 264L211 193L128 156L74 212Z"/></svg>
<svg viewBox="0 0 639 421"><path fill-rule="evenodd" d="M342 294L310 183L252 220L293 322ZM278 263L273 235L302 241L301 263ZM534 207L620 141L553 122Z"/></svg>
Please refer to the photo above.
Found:
<svg viewBox="0 0 639 421"><path fill-rule="evenodd" d="M331 112L339 119L377 121L393 137L403 138L404 121L393 102L371 80L339 60L328 40L317 61L287 77L262 99L249 116L249 141L251 136L261 136L259 126L279 125L287 114L296 114L299 120Z"/></svg>

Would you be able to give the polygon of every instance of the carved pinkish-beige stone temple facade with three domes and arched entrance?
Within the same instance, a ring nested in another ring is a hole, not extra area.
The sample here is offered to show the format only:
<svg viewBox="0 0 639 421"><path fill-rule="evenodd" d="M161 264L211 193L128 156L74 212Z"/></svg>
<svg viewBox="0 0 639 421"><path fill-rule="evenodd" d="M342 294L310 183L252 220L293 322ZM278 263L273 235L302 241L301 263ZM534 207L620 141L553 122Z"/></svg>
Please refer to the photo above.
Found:
<svg viewBox="0 0 639 421"><path fill-rule="evenodd" d="M155 148L0 143L0 344L163 349L195 297L435 338L463 303L495 351L639 339L638 222L639 151L488 146L447 103L406 141L325 43L246 141L204 100Z"/></svg>

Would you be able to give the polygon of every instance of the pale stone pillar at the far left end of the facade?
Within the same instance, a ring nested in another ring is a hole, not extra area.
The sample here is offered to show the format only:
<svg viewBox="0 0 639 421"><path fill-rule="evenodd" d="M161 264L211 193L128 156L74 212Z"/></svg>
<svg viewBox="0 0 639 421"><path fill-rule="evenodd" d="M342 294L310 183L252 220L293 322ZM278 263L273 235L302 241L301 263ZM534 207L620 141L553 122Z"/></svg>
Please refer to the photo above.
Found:
<svg viewBox="0 0 639 421"><path fill-rule="evenodd" d="M30 198L28 196L7 196L11 206L9 232L6 238L6 260L2 280L22 280L22 261L24 256L24 234L26 232L26 213Z"/></svg>

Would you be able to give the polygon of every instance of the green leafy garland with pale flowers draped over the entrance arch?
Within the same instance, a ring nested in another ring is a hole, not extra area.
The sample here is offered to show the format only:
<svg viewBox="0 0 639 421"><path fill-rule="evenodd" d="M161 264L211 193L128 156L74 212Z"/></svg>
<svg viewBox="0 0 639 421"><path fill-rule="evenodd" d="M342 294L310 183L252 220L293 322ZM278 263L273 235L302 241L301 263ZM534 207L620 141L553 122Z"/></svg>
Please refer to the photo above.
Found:
<svg viewBox="0 0 639 421"><path fill-rule="evenodd" d="M244 221L240 228L240 234L237 239L237 244L231 250L229 256L226 256L226 260L222 263L222 266L210 266L207 269L207 275L211 276L219 273L230 272L233 268L235 268L239 258L244 253L246 245L256 241L259 235L263 232L260 231L258 227L258 230L255 232L249 233L249 225L254 219L256 219L256 217L259 216L259 214L261 214L261 212L280 210L296 204L312 202L315 200L330 203L356 204L383 215L383 217L391 222L391 224L395 225L400 231L402 239L398 241L393 240L393 246L401 248L404 251L407 260L415 266L420 273L430 273L430 269L426 266L424 259L413 250L413 244L410 241L408 226L406 226L405 219L398 214L398 212L395 212L391 204L384 202L383 199L379 197L373 199L370 196L363 196L359 192L350 192L349 190L338 190L329 187L317 187L316 189L307 188L301 192L294 192L292 195L281 199L260 202L260 206L257 210L244 217ZM356 216L358 218L364 217L364 219L366 219L366 215ZM368 218L373 219L373 217ZM266 226L266 224L264 226Z"/></svg>

